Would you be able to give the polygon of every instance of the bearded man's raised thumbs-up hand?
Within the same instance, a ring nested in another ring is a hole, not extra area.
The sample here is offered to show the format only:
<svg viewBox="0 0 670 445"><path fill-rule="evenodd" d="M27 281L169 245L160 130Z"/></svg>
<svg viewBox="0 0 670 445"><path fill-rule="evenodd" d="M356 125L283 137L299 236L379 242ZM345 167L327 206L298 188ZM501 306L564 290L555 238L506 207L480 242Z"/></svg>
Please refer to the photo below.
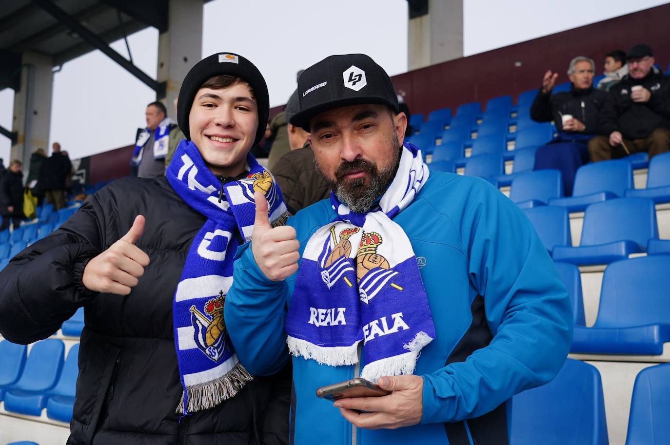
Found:
<svg viewBox="0 0 670 445"><path fill-rule="evenodd" d="M256 220L253 226L251 252L265 277L281 281L297 271L300 258L300 243L295 239L295 229L289 226L270 226L267 216L267 200L261 192L255 192Z"/></svg>

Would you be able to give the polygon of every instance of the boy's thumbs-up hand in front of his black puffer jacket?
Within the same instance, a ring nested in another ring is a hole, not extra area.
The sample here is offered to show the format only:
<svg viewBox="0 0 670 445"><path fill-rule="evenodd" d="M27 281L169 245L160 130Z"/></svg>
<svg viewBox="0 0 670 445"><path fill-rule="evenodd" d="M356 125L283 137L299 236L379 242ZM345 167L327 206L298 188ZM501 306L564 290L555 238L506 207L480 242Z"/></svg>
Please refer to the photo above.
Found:
<svg viewBox="0 0 670 445"><path fill-rule="evenodd" d="M138 215L123 238L88 261L82 276L86 289L106 294L130 294L149 265L149 255L135 245L142 236L144 223L144 216Z"/></svg>

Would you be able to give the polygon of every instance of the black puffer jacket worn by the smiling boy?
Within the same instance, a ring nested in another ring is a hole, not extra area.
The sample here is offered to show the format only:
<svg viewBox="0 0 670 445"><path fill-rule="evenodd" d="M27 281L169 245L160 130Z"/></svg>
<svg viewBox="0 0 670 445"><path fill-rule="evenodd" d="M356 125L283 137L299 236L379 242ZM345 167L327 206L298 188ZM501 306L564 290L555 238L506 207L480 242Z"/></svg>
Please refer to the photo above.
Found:
<svg viewBox="0 0 670 445"><path fill-rule="evenodd" d="M86 261L146 218L137 246L151 263L128 296L83 288ZM163 178L126 178L84 202L58 231L0 273L0 333L29 343L84 307L79 377L68 444L284 444L291 372L248 383L235 397L178 423L180 384L172 300L205 222Z"/></svg>

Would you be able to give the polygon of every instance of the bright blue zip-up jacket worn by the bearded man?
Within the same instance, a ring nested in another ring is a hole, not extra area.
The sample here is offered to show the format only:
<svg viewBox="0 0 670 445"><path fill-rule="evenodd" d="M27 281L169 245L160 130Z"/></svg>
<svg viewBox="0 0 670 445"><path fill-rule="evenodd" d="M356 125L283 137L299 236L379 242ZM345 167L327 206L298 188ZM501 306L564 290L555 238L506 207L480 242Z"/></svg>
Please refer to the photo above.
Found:
<svg viewBox="0 0 670 445"><path fill-rule="evenodd" d="M289 218L301 254L334 216L324 200ZM547 250L525 214L479 178L431 172L393 220L414 249L435 324L435 340L421 350L415 369L423 377L421 424L353 427L315 391L358 377L364 357L356 367L293 357L291 442L507 444L511 418L504 402L553 379L572 341L567 291ZM243 365L252 375L268 375L289 357L284 318L297 273L270 281L249 247L238 253L224 316Z"/></svg>

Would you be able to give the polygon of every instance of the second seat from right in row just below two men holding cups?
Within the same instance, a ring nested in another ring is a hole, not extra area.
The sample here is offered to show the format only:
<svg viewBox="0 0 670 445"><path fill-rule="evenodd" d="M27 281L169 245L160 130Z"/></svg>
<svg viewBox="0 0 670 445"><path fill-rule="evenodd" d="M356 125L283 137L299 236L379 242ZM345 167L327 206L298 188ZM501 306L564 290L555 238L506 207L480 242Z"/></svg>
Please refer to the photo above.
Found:
<svg viewBox="0 0 670 445"><path fill-rule="evenodd" d="M594 162L581 166L575 176L572 196L556 198L549 205L567 207L570 212L583 212L590 204L624 196L632 188L632 166L624 160Z"/></svg>

